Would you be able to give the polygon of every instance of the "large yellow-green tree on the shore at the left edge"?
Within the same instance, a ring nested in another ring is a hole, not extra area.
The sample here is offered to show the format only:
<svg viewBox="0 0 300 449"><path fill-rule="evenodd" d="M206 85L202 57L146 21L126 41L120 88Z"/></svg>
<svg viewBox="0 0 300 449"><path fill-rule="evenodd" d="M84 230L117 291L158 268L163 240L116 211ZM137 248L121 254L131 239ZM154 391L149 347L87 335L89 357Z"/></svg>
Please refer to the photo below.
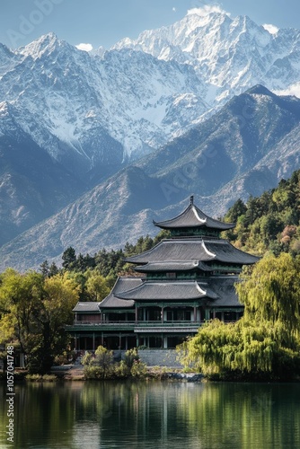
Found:
<svg viewBox="0 0 300 449"><path fill-rule="evenodd" d="M32 373L46 373L66 348L64 326L72 319L78 286L67 273L44 278L7 269L0 277L1 342L19 342Z"/></svg>

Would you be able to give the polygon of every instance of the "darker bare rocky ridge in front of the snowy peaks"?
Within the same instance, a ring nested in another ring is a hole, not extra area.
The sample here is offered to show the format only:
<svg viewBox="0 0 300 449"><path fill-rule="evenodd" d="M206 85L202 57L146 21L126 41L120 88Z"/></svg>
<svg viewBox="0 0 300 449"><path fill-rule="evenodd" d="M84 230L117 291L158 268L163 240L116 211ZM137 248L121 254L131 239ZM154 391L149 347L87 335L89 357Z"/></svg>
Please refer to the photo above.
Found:
<svg viewBox="0 0 300 449"><path fill-rule="evenodd" d="M38 267L154 235L152 220L180 212L190 194L208 215L275 187L299 167L300 100L255 86L213 117L102 182L0 249L0 269ZM20 258L22 254L22 258Z"/></svg>

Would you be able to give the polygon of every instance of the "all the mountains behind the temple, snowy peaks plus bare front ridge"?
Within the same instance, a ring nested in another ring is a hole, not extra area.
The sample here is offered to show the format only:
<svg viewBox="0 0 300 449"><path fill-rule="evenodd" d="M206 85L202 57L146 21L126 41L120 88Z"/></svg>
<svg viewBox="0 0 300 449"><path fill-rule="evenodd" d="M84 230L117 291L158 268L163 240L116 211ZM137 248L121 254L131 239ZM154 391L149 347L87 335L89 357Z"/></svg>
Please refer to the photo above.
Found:
<svg viewBox="0 0 300 449"><path fill-rule="evenodd" d="M190 193L216 216L275 187L299 168L300 100L269 89L296 88L299 40L212 13L104 54L0 46L0 269L153 235Z"/></svg>

